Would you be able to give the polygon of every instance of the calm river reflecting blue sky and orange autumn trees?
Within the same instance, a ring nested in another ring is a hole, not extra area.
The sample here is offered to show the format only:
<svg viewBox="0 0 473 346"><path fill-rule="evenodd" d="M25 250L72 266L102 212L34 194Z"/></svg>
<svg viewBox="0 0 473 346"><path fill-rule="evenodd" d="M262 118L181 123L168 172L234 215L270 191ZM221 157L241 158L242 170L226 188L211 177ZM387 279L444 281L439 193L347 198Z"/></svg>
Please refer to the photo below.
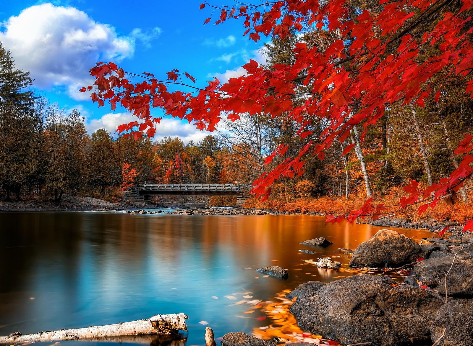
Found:
<svg viewBox="0 0 473 346"><path fill-rule="evenodd" d="M309 280L330 282L358 274L338 248L354 249L379 229L324 226L323 217L302 215L2 212L0 335L178 312L189 315L187 346L204 344L207 325L216 338L235 331L251 335L268 324L258 309L244 313L251 301L274 300L277 293ZM398 231L415 240L431 236L425 230ZM299 244L319 236L333 245ZM304 262L326 256L342 262L342 269ZM271 265L287 269L289 279L255 271Z"/></svg>

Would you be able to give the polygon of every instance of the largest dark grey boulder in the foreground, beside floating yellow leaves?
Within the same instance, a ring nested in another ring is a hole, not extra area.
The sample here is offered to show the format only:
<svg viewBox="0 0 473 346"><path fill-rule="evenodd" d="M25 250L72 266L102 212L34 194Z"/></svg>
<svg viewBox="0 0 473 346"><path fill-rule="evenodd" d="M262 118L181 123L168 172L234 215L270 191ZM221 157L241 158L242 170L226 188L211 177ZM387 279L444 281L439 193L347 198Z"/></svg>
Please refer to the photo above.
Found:
<svg viewBox="0 0 473 346"><path fill-rule="evenodd" d="M384 275L342 278L297 299L290 311L299 327L342 345L399 346L428 334L443 302L427 290L395 284Z"/></svg>

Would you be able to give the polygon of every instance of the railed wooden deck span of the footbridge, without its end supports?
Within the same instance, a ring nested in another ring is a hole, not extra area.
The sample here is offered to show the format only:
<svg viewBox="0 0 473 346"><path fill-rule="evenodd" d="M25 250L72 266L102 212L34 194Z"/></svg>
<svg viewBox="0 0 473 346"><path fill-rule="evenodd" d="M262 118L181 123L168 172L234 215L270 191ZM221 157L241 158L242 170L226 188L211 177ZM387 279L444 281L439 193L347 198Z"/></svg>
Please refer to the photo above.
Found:
<svg viewBox="0 0 473 346"><path fill-rule="evenodd" d="M243 184L136 184L140 195L147 194L245 194L251 186ZM244 191L245 190L245 191Z"/></svg>

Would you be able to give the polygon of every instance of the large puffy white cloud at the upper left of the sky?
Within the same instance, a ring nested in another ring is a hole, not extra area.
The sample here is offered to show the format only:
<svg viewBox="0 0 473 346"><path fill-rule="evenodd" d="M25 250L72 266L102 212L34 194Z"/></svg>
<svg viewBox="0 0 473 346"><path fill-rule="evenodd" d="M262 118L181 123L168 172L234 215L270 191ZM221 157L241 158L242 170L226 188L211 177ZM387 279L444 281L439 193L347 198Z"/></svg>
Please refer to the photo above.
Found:
<svg viewBox="0 0 473 346"><path fill-rule="evenodd" d="M0 42L11 49L15 68L31 71L36 87L62 86L76 100L88 97L77 90L90 84L88 70L97 61L120 62L133 55L136 39L146 41L139 29L133 30L135 36L119 36L113 26L97 23L77 8L50 3L24 9L1 29ZM155 29L148 37L158 34Z"/></svg>

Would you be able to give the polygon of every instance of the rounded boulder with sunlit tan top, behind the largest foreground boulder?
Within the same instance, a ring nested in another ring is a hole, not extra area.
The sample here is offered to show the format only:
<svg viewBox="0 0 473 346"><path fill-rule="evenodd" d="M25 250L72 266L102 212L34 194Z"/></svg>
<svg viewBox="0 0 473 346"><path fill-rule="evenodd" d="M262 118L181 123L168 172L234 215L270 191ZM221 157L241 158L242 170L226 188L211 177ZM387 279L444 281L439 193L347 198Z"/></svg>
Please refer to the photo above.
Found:
<svg viewBox="0 0 473 346"><path fill-rule="evenodd" d="M424 256L420 245L391 229L381 229L356 248L350 267L391 267L416 262Z"/></svg>

